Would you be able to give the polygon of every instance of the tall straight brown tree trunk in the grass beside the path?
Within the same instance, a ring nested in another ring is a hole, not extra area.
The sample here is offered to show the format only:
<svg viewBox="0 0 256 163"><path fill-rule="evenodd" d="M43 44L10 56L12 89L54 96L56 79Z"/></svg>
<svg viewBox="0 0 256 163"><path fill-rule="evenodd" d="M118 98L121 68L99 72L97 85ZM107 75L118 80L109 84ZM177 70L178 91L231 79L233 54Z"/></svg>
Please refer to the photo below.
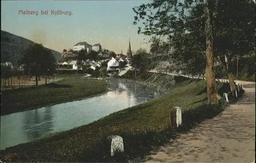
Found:
<svg viewBox="0 0 256 163"><path fill-rule="evenodd" d="M213 50L213 31L212 31L212 12L210 11L210 4L212 0L206 0L206 20L205 20L205 34L206 34L206 69L205 69L205 77L206 77L206 85L207 85L207 97L209 104L217 104L218 93L216 89L216 81L215 81L215 70L214 70L214 50Z"/></svg>

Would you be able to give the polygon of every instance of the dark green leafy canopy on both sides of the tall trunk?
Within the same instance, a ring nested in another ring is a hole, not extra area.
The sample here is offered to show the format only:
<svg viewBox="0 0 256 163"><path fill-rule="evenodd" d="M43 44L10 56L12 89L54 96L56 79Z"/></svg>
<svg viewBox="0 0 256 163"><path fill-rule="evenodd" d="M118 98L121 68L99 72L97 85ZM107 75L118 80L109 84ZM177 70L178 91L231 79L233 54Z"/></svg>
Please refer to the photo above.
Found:
<svg viewBox="0 0 256 163"><path fill-rule="evenodd" d="M215 2L209 6L213 12L215 57L223 62L226 55L230 63L255 47L255 4L247 0ZM136 13L134 24L142 22L139 34L167 37L166 43L152 37L152 52L162 52L172 46L175 52L170 57L181 64L179 68L183 72L204 73L206 17L203 1L152 1L133 10Z"/></svg>

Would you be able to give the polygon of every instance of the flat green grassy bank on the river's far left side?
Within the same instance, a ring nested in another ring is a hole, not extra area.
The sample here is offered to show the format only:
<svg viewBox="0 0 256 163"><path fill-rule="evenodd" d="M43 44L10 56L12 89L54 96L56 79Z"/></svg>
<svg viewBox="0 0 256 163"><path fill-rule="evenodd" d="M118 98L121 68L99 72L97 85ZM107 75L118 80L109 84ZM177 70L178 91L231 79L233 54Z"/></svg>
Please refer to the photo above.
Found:
<svg viewBox="0 0 256 163"><path fill-rule="evenodd" d="M67 78L47 85L4 90L1 95L1 115L72 101L107 90L108 87L102 80L80 78Z"/></svg>

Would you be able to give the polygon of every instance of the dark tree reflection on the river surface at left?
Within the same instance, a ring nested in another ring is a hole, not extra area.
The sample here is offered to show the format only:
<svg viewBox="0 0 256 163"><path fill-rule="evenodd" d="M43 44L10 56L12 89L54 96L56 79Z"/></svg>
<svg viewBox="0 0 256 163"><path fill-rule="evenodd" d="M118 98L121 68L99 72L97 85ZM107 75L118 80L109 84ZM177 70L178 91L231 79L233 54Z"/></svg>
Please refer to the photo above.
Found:
<svg viewBox="0 0 256 163"><path fill-rule="evenodd" d="M47 133L53 128L52 107L45 107L41 113L39 110L25 112L23 129L27 134L28 140L33 141Z"/></svg>

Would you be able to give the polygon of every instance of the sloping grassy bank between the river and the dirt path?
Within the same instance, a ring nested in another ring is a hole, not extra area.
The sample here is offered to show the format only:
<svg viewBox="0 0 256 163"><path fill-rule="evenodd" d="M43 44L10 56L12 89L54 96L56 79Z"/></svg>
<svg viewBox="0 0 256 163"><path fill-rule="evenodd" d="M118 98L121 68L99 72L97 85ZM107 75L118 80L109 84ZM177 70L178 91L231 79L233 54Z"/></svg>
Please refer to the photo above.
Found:
<svg viewBox="0 0 256 163"><path fill-rule="evenodd" d="M217 83L219 94L223 84ZM183 130L205 118L211 118L225 107L208 106L204 80L179 84L171 93L143 104L113 113L88 125L80 126L53 136L7 148L1 151L2 161L127 161L143 156L148 151L175 137L177 130L169 128L169 111L180 106L183 112ZM112 134L121 135L125 153L114 160L105 152L102 139Z"/></svg>

